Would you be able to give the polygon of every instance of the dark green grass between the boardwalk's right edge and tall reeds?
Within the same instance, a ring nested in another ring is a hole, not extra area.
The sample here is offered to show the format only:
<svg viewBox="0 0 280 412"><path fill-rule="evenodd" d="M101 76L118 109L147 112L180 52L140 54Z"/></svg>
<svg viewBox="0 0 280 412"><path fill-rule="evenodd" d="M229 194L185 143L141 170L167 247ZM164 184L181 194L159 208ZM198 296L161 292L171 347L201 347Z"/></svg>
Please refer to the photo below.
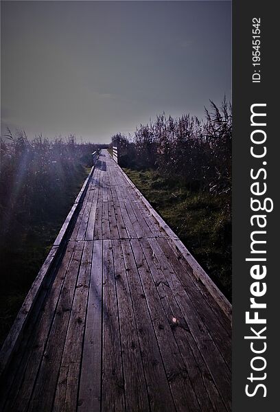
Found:
<svg viewBox="0 0 280 412"><path fill-rule="evenodd" d="M124 169L198 263L231 300L231 216L229 195L194 192L178 179Z"/></svg>

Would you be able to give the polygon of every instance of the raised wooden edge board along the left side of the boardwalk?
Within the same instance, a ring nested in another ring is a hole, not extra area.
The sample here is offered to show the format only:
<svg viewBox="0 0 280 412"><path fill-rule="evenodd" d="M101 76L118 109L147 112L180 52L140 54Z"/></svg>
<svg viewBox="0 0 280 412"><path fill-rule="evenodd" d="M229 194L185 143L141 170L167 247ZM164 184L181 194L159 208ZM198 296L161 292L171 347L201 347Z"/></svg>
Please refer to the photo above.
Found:
<svg viewBox="0 0 280 412"><path fill-rule="evenodd" d="M95 165L93 165L93 167L91 168L89 176L87 176L84 184L82 185L82 189L80 190L78 196L75 198L73 207L71 208L71 211L69 211L69 214L67 215L67 218L65 219L65 222L63 223L62 228L60 229L58 236L54 241L53 247L51 247L51 250L49 251L47 258L43 263L43 266L40 268L40 271L38 272L38 275L36 276L30 288L30 291L25 297L25 301L23 302L19 313L16 315L16 319L12 324L12 328L10 329L9 334L3 343L0 352L0 376L5 372L10 363L10 359L12 358L12 354L14 354L14 351L21 341L21 336L25 324L30 317L32 308L34 308L36 299L38 298L49 273L51 273L52 269L54 269L54 267L56 266L56 263L60 260L60 257L65 248L67 236L73 229L75 219L77 218L79 213L79 207L80 205L82 205L82 201L84 200L84 196L89 186L91 176L93 176L94 170Z"/></svg>

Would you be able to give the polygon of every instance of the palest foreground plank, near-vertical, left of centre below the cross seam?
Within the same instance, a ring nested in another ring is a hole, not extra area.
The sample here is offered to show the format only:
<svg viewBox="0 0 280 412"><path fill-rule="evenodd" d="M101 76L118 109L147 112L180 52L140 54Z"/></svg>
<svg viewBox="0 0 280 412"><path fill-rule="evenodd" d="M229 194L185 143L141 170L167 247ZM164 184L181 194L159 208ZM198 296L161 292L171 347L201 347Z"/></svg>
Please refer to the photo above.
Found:
<svg viewBox="0 0 280 412"><path fill-rule="evenodd" d="M82 352L78 411L100 411L102 376L102 240L93 242L93 260Z"/></svg>

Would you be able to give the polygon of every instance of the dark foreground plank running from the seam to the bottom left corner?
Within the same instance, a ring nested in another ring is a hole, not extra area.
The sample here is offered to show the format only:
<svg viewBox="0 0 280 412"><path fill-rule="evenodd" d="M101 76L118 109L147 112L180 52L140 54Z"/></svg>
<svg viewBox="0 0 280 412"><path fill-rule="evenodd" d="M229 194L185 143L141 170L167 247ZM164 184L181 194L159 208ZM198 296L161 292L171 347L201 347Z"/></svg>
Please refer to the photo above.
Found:
<svg viewBox="0 0 280 412"><path fill-rule="evenodd" d="M54 309L58 302L74 247L75 243L69 242L54 283L51 285L51 290L43 306L40 321L36 324L34 333L27 344L25 356L19 365L4 411L27 410L36 374L45 350L45 342L54 318Z"/></svg>

